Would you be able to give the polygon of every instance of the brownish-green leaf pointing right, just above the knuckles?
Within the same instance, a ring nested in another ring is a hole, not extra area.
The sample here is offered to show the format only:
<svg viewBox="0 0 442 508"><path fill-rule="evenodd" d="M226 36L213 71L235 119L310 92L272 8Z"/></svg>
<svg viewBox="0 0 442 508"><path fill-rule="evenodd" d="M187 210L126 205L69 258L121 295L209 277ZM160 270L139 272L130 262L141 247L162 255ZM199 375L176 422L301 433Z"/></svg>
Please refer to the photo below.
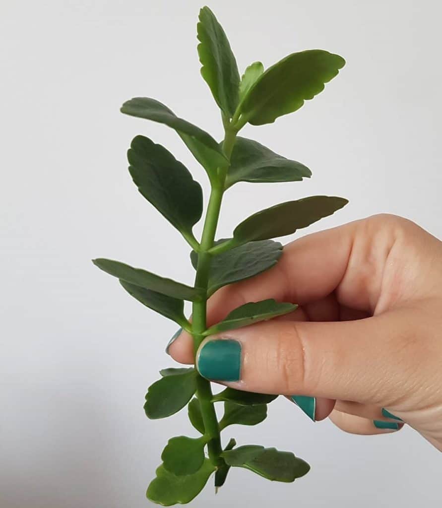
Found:
<svg viewBox="0 0 442 508"><path fill-rule="evenodd" d="M275 238L295 233L316 221L332 215L348 200L330 196L311 196L288 201L250 215L233 232L237 243Z"/></svg>

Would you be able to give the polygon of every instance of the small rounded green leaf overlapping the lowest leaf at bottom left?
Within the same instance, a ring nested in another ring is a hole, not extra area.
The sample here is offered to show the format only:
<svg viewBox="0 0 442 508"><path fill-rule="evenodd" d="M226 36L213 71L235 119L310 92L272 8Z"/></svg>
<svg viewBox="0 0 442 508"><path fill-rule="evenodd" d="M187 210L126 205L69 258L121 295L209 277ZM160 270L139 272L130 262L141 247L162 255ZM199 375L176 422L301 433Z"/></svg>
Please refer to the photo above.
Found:
<svg viewBox="0 0 442 508"><path fill-rule="evenodd" d="M172 437L161 455L164 468L177 476L196 473L204 462L204 446L201 438Z"/></svg>

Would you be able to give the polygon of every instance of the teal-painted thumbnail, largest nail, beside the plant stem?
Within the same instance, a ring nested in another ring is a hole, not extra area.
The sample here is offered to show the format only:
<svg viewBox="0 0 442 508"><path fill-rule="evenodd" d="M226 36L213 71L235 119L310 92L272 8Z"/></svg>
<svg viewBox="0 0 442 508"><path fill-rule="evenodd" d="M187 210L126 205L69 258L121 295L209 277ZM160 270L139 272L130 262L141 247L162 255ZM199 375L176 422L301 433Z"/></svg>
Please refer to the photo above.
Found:
<svg viewBox="0 0 442 508"><path fill-rule="evenodd" d="M201 348L197 367L200 374L213 381L239 381L241 344L233 339L210 340Z"/></svg>

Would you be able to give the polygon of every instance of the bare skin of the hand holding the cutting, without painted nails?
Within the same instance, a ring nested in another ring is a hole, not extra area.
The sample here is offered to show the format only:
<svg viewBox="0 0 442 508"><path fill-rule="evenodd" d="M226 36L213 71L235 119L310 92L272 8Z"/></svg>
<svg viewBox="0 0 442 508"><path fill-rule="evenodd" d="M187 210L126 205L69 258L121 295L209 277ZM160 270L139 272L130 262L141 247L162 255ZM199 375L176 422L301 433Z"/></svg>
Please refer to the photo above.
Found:
<svg viewBox="0 0 442 508"><path fill-rule="evenodd" d="M210 336L242 346L245 391L317 397L316 420L384 434L381 408L442 451L442 242L409 220L376 215L286 245L271 270L219 290L208 325L250 301L292 314ZM170 346L193 364L185 332ZM198 354L197 354L198 356Z"/></svg>

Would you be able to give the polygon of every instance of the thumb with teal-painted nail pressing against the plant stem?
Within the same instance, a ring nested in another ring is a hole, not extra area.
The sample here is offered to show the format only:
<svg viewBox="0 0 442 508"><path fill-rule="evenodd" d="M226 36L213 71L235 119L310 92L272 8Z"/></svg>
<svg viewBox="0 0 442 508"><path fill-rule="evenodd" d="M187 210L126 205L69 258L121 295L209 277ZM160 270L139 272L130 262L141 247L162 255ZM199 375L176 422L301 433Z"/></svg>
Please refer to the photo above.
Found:
<svg viewBox="0 0 442 508"><path fill-rule="evenodd" d="M202 376L239 390L388 407L413 383L406 374L418 347L410 340L412 314L260 323L207 337L196 365Z"/></svg>

